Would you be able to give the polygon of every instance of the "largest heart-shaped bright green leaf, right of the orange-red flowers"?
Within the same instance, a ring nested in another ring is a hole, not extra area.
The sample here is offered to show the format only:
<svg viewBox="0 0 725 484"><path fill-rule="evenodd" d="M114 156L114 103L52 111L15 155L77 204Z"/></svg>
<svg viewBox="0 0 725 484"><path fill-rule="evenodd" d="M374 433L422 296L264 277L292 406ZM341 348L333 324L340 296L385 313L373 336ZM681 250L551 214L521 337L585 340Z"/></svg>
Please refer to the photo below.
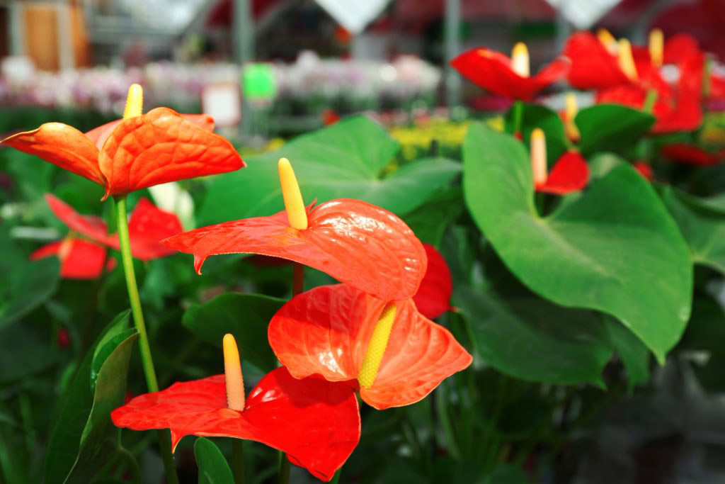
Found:
<svg viewBox="0 0 725 484"><path fill-rule="evenodd" d="M510 271L557 304L610 313L663 361L689 317L692 263L650 184L619 166L542 218L521 143L474 125L463 158L468 210Z"/></svg>

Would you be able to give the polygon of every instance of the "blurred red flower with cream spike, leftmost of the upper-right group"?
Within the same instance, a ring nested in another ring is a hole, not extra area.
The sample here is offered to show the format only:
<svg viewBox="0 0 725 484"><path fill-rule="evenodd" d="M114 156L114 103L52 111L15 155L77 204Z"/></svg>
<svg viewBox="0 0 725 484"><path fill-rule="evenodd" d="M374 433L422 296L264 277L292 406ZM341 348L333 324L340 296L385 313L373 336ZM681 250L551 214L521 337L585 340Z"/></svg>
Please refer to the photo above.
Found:
<svg viewBox="0 0 725 484"><path fill-rule="evenodd" d="M529 52L519 42L509 59L490 49L471 49L451 61L451 65L482 88L511 99L531 100L537 92L560 81L569 70L566 59L557 59L537 75L529 75Z"/></svg>

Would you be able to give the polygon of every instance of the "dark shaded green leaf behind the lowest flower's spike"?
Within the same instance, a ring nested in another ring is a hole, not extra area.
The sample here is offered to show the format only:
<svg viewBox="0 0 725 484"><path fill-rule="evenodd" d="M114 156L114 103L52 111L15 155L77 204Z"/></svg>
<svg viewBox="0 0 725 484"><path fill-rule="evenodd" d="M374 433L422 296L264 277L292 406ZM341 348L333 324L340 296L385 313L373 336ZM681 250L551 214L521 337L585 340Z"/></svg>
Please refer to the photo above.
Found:
<svg viewBox="0 0 725 484"><path fill-rule="evenodd" d="M267 340L267 327L284 303L286 300L258 294L227 293L206 304L192 305L181 324L200 340L219 347L224 335L231 333L242 359L271 372L277 358Z"/></svg>

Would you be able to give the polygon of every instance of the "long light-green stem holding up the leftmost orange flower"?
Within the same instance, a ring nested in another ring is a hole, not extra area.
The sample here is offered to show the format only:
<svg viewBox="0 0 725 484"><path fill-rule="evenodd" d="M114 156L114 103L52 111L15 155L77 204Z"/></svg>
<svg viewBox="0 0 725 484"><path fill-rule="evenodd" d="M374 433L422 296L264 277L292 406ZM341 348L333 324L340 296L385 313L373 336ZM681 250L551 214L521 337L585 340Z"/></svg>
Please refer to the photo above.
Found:
<svg viewBox="0 0 725 484"><path fill-rule="evenodd" d="M128 299L130 300L133 324L138 331L138 349L141 352L141 366L144 367L146 386L149 392L159 391L159 384L154 370L154 360L151 356L151 345L149 335L146 333L144 324L144 313L141 311L141 298L138 297L138 284L136 284L136 273L133 271L133 256L131 255L130 237L128 237L128 219L126 218L126 197L116 198L116 225L118 229L118 242L121 247L121 261L123 261L123 273L128 288ZM168 484L178 484L179 478L174 467L174 458L171 452L171 440L168 432L159 430L157 432L159 448L164 462L166 479Z"/></svg>

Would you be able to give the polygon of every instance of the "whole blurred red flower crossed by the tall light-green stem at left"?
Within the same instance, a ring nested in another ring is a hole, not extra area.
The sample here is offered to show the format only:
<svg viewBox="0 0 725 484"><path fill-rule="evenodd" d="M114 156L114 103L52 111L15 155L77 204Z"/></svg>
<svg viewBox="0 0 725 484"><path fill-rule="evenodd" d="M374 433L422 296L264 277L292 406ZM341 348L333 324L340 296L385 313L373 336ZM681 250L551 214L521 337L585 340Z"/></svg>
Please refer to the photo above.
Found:
<svg viewBox="0 0 725 484"><path fill-rule="evenodd" d="M106 223L96 216L83 216L54 195L46 194L46 202L60 221L72 231L92 241L120 250L118 234L108 234ZM152 202L142 198L130 215L128 233L131 237L131 253L141 261L151 261L171 255L173 250L159 244L173 234L183 231L181 221L173 214L156 208Z"/></svg>

